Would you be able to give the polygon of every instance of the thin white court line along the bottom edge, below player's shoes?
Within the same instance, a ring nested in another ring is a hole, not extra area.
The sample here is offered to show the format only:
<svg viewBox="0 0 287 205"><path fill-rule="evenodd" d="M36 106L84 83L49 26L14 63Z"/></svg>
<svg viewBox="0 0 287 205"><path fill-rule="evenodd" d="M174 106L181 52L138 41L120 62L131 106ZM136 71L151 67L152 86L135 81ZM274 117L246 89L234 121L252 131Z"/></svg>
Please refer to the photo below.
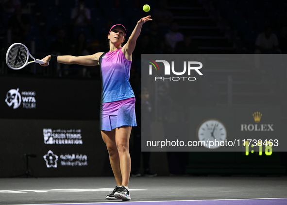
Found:
<svg viewBox="0 0 287 205"><path fill-rule="evenodd" d="M287 197L282 198L254 198L254 199L202 199L202 200L174 200L174 201L142 201L142 202L120 202L122 203L146 203L146 202L194 202L194 201L227 201L227 200L259 200L259 199L287 199ZM112 204L116 202L96 202L96 203L65 203L65 204L26 204L26 205L90 205L90 204Z"/></svg>

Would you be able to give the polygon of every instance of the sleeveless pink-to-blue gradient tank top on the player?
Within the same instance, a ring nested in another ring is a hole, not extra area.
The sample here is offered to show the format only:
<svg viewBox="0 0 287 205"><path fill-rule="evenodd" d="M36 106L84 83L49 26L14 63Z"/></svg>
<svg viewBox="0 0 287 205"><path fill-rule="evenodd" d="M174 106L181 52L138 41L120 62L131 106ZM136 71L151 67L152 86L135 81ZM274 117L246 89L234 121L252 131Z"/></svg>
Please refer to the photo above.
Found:
<svg viewBox="0 0 287 205"><path fill-rule="evenodd" d="M101 103L135 97L129 81L132 61L126 59L121 49L100 57Z"/></svg>

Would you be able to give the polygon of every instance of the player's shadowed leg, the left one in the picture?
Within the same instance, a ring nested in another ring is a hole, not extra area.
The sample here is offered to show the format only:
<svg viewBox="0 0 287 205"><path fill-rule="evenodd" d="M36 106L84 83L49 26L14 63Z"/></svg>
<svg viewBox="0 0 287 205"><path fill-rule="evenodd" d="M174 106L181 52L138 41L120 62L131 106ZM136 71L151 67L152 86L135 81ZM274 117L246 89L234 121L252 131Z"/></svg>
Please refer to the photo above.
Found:
<svg viewBox="0 0 287 205"><path fill-rule="evenodd" d="M116 145L116 129L112 131L101 130L101 137L107 146L107 150L110 156L111 167L118 186L122 185L122 176L120 171L120 160L118 154L118 148Z"/></svg>

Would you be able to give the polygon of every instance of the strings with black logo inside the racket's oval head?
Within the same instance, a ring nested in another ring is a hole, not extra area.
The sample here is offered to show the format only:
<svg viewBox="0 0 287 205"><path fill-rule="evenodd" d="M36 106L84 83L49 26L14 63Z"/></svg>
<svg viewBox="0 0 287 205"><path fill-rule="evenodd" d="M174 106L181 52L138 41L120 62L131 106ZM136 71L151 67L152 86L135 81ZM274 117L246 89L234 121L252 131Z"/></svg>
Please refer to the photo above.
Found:
<svg viewBox="0 0 287 205"><path fill-rule="evenodd" d="M28 53L24 46L15 45L8 53L8 64L12 68L21 68L26 64Z"/></svg>

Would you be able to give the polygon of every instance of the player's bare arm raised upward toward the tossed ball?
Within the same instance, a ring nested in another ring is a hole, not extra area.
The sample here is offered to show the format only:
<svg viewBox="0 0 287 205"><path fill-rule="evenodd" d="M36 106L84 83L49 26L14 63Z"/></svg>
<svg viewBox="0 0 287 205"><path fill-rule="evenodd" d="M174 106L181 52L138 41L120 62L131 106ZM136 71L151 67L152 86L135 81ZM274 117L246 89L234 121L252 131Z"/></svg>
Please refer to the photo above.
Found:
<svg viewBox="0 0 287 205"><path fill-rule="evenodd" d="M151 16L143 17L139 21L137 21L135 29L131 34L131 36L129 37L128 42L123 46L122 51L128 60L132 60L132 53L135 50L135 42L140 34L141 27L145 22L152 20L152 18L150 17Z"/></svg>

